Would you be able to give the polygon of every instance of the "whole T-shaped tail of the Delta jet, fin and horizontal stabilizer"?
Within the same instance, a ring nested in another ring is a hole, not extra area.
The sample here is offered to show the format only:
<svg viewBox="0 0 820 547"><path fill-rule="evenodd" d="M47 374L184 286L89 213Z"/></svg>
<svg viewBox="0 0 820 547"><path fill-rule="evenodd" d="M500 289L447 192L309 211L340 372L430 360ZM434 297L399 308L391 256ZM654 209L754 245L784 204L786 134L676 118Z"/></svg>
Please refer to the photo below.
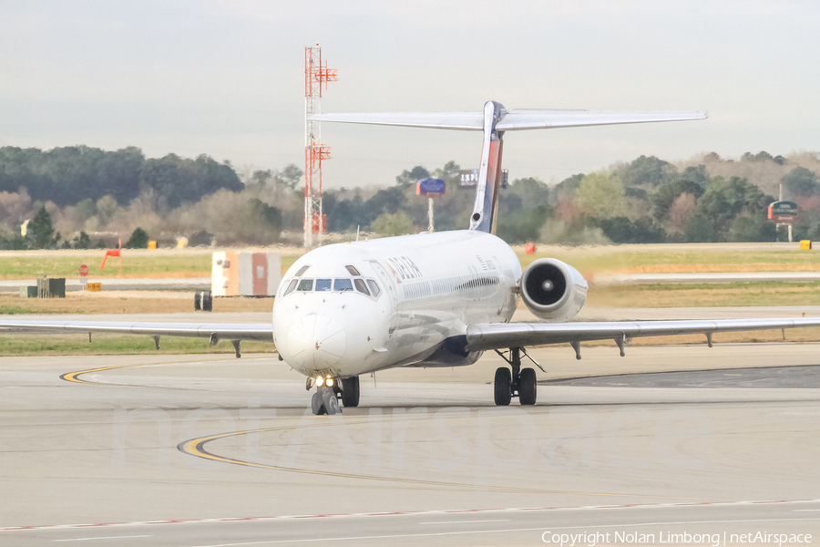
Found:
<svg viewBox="0 0 820 547"><path fill-rule="evenodd" d="M476 203L470 230L496 232L501 151L506 131L578 128L596 125L705 119L705 112L609 112L602 110L507 110L494 100L483 112L379 112L367 114L317 114L316 121L364 123L429 129L483 131L484 146L476 185Z"/></svg>

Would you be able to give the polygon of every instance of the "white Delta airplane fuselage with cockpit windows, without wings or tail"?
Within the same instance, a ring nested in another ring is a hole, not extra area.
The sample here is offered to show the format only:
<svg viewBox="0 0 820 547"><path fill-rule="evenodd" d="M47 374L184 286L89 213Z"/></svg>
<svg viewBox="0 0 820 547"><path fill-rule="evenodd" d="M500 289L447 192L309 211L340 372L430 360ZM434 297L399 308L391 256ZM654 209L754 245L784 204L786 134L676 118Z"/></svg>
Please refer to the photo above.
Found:
<svg viewBox="0 0 820 547"><path fill-rule="evenodd" d="M487 232L421 233L327 245L282 278L273 339L309 377L352 377L395 366L462 366L466 327L507 323L521 264Z"/></svg>

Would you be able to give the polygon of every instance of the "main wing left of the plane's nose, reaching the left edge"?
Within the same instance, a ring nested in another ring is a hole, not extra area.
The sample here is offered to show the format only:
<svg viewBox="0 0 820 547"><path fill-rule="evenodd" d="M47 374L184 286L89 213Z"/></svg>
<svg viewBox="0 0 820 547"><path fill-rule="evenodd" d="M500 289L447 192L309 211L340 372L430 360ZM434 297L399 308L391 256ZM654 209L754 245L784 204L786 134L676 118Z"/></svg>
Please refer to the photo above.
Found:
<svg viewBox="0 0 820 547"><path fill-rule="evenodd" d="M270 323L134 323L116 321L15 321L0 320L5 333L188 336L210 340L273 342Z"/></svg>

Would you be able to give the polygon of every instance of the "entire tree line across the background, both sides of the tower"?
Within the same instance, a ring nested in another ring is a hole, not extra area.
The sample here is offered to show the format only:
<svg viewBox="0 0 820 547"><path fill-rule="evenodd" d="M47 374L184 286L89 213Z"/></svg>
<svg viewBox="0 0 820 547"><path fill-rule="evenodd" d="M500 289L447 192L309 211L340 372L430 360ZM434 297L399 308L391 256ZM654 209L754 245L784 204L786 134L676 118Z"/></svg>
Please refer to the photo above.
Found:
<svg viewBox="0 0 820 547"><path fill-rule="evenodd" d="M436 231L463 229L475 190L461 186L459 170L454 161L433 170L415 166L382 188L325 191L327 228L375 235L426 230L427 201L415 184L436 177L446 183L445 195L435 198ZM774 241L766 208L782 185L784 199L799 206L795 237L815 239L818 171L814 152L762 151L739 159L712 152L675 164L641 156L552 185L519 177L499 194L497 233L508 243ZM0 247L105 246L131 241L137 230L137 246L193 234L204 243L299 244L301 181L295 165L238 173L205 155L149 159L136 148L0 148Z"/></svg>

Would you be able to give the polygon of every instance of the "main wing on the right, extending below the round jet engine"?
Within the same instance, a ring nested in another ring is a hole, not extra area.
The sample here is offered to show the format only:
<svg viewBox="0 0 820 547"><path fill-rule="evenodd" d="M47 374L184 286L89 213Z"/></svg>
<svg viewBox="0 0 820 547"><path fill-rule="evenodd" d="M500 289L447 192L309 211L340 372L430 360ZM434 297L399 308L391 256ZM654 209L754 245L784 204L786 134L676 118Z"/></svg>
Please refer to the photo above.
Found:
<svg viewBox="0 0 820 547"><path fill-rule="evenodd" d="M706 335L820 326L820 317L796 319L720 319L714 321L601 321L570 323L487 323L469 325L470 351L507 347L576 344L589 340L622 341L639 336ZM580 357L579 357L580 358Z"/></svg>

